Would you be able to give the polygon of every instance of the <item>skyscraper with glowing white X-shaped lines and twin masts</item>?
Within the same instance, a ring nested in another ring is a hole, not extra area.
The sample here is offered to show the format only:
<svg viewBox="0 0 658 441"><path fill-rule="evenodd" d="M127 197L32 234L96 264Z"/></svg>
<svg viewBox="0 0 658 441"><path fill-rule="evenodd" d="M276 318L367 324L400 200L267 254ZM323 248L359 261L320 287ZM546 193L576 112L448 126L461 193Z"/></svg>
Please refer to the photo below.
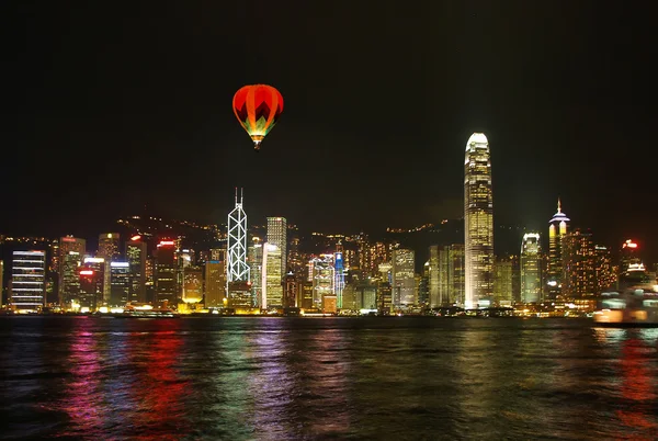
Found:
<svg viewBox="0 0 658 441"><path fill-rule="evenodd" d="M230 282L250 281L247 264L247 215L242 210L242 194L238 202L236 189L236 207L228 214L228 258L226 268L226 287Z"/></svg>

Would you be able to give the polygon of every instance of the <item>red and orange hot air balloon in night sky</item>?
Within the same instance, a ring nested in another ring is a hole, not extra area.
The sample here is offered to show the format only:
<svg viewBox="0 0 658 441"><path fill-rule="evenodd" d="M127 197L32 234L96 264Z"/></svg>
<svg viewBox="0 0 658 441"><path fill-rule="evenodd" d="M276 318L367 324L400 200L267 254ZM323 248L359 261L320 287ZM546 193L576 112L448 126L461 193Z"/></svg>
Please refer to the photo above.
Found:
<svg viewBox="0 0 658 441"><path fill-rule="evenodd" d="M283 112L283 97L272 86L245 86L234 95L234 112L258 151Z"/></svg>

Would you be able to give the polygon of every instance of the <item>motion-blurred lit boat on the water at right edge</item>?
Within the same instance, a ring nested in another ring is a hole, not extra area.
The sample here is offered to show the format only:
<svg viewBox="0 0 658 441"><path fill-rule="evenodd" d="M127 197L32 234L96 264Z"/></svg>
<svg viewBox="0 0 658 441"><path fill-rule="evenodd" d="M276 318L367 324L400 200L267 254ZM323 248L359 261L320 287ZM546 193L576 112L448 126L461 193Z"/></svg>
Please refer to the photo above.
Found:
<svg viewBox="0 0 658 441"><path fill-rule="evenodd" d="M597 326L658 327L658 285L639 271L621 280L620 290L601 294L593 319Z"/></svg>

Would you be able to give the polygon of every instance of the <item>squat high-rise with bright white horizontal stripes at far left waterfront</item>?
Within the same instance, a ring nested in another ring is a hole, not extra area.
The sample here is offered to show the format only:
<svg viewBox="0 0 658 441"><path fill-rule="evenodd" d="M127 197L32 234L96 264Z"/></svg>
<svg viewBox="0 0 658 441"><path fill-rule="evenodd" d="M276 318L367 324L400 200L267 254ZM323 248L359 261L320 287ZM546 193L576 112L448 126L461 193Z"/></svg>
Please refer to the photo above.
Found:
<svg viewBox="0 0 658 441"><path fill-rule="evenodd" d="M13 251L11 267L11 307L37 312L45 306L46 252Z"/></svg>

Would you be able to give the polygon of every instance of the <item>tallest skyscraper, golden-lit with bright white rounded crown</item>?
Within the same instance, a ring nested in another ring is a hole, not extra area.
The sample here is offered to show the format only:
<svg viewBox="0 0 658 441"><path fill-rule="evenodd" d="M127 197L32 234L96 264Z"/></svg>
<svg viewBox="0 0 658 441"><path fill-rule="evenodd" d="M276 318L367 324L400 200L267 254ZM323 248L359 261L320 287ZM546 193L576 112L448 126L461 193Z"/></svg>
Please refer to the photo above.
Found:
<svg viewBox="0 0 658 441"><path fill-rule="evenodd" d="M494 199L489 142L474 133L464 161L464 306L475 308L494 294Z"/></svg>

